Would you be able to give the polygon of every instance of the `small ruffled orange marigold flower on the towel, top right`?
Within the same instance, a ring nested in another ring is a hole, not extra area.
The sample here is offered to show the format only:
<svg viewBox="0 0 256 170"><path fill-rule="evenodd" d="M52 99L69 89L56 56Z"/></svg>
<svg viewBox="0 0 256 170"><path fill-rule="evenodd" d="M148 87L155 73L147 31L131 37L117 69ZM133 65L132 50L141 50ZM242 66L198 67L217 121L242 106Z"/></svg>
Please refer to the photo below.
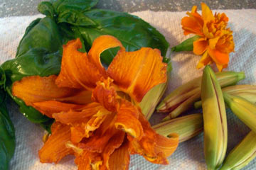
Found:
<svg viewBox="0 0 256 170"><path fill-rule="evenodd" d="M193 6L191 13L187 12L182 18L181 25L184 35L196 34L201 38L193 42L193 52L203 55L197 68L215 62L218 70L228 67L229 53L234 51L233 32L227 28L228 17L225 13L215 13L213 16L210 8L201 3L202 16L197 12L197 6Z"/></svg>

